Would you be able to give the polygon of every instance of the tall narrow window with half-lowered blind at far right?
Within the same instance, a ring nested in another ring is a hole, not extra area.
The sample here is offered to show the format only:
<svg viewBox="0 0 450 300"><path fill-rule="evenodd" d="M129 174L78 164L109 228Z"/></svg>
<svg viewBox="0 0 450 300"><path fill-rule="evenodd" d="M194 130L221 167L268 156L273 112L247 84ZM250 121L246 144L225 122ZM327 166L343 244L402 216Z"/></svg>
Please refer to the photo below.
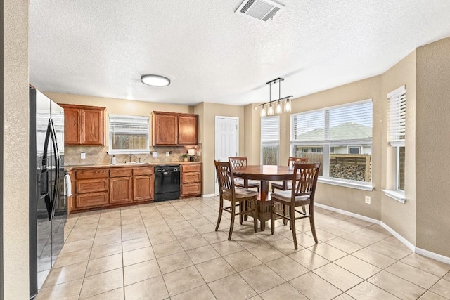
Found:
<svg viewBox="0 0 450 300"><path fill-rule="evenodd" d="M400 86L387 94L389 99L389 145L395 155L394 190L404 193L405 190L405 121L406 121L406 89Z"/></svg>

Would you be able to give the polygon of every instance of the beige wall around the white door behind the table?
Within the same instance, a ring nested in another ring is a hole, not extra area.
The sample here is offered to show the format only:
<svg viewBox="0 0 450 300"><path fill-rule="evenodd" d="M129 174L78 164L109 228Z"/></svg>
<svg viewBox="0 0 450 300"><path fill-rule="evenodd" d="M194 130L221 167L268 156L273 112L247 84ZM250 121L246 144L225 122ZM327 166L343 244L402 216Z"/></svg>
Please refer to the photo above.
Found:
<svg viewBox="0 0 450 300"><path fill-rule="evenodd" d="M238 117L239 118L239 154L244 154L244 107L234 105L224 105L216 103L202 103L194 108L194 112L199 115L202 122L202 143L203 143L203 195L214 194L215 188L215 117Z"/></svg>

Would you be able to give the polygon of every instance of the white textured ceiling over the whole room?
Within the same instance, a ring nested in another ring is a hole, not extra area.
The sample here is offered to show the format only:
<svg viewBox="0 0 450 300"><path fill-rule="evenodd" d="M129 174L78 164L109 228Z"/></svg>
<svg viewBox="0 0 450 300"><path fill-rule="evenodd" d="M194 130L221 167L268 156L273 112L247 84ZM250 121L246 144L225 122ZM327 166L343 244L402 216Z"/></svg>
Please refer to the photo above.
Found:
<svg viewBox="0 0 450 300"><path fill-rule="evenodd" d="M450 36L449 0L30 0L30 83L42 91L195 105L304 96L385 72ZM171 79L141 83L142 74ZM278 98L278 85L272 89Z"/></svg>

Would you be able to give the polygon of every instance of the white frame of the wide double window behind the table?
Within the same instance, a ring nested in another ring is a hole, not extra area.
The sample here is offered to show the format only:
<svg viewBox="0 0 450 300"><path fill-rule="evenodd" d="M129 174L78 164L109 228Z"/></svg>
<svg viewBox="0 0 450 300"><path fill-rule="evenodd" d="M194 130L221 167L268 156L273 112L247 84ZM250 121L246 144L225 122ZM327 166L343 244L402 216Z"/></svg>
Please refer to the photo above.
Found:
<svg viewBox="0 0 450 300"><path fill-rule="evenodd" d="M327 131L330 129L330 110L342 108L342 107L351 107L354 105L362 105L364 103L372 103L372 130L373 130L373 100L372 98L366 99L366 100L360 100L353 103L346 103L343 105L335 105L330 107L324 107L319 110L309 110L305 112L300 112L297 114L290 115L290 155L295 155L295 148L297 146L300 146L302 148L311 148L314 146L320 146L323 148L323 163L322 163L322 174L323 176L319 176L318 181L321 183L327 183L331 185L339 185L339 186L345 186L348 188L355 188L359 190L373 190L373 183L372 181L354 181L344 178L334 178L329 177L330 174L330 148L336 147L336 146L347 146L347 149L349 146L351 147L364 147L364 145L369 145L371 148L373 148L373 133L370 139L357 139L357 140L332 140L328 137L325 138L323 141L296 141L295 140L295 129L294 129L294 118L298 115L304 115L309 114L312 112L324 112L324 122L325 122L325 134L328 134ZM372 170L371 170L372 171ZM372 176L371 176L372 177Z"/></svg>

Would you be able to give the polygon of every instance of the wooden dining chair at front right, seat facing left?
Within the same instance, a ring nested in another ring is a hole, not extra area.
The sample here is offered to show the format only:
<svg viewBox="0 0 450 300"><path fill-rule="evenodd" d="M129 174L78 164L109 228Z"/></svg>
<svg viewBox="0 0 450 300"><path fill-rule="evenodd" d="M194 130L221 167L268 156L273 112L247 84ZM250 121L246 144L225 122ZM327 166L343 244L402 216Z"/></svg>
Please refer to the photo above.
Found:
<svg viewBox="0 0 450 300"><path fill-rule="evenodd" d="M320 162L313 164L294 164L293 189L283 190L271 194L271 233L274 234L275 217L281 217L290 221L290 228L293 230L294 247L297 250L297 233L295 232L295 220L309 218L311 232L314 242L317 244L316 227L314 226L314 194L316 193L317 178L319 177ZM289 211L276 211L276 202L289 207ZM295 207L309 205L309 212L297 211ZM295 213L300 216L295 217Z"/></svg>

